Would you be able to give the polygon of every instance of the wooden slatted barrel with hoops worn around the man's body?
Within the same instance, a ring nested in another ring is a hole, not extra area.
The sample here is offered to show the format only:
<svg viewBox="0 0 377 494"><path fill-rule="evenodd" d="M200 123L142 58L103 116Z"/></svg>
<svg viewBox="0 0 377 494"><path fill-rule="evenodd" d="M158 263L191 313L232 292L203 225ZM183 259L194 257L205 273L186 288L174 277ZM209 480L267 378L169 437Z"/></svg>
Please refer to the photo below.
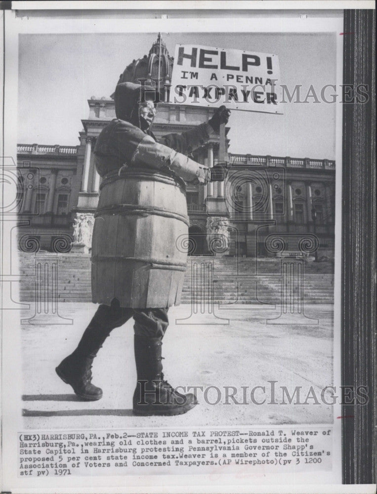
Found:
<svg viewBox="0 0 377 494"><path fill-rule="evenodd" d="M185 183L121 168L101 184L92 237L92 301L138 309L179 304L188 238Z"/></svg>

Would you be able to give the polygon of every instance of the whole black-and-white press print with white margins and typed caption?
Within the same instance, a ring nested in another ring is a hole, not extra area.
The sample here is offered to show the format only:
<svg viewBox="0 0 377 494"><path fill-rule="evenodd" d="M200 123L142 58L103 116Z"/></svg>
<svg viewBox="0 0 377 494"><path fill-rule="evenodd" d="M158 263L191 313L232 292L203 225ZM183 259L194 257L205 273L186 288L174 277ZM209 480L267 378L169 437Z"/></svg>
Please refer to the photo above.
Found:
<svg viewBox="0 0 377 494"><path fill-rule="evenodd" d="M371 87L314 8L3 11L2 490L341 489Z"/></svg>

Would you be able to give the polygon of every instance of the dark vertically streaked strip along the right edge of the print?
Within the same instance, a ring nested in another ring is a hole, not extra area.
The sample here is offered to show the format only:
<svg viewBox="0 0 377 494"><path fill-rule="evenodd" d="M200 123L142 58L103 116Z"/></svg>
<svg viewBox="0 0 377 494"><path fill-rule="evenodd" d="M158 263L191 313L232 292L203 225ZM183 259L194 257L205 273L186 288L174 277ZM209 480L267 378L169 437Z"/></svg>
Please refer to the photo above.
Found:
<svg viewBox="0 0 377 494"><path fill-rule="evenodd" d="M343 484L375 484L376 11L344 10L343 84L368 84L343 103L342 385L368 386L369 403L342 407Z"/></svg>

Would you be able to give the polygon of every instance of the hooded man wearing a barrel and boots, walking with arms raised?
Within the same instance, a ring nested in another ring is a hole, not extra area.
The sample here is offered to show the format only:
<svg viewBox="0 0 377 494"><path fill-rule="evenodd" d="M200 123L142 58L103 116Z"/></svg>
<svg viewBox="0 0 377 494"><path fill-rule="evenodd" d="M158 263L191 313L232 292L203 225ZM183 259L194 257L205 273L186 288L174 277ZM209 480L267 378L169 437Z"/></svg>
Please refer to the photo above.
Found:
<svg viewBox="0 0 377 494"><path fill-rule="evenodd" d="M186 252L177 240L188 235L185 182L222 179L186 154L227 123L220 107L208 123L159 141L150 130L156 116L155 90L131 82L117 85L116 119L97 138L95 166L101 192L92 239L92 301L100 303L75 349L56 368L84 400L102 397L91 383L91 366L112 329L133 317L137 384L136 415L177 415L196 404L164 379L161 345L168 307L179 304ZM220 171L220 174L218 173Z"/></svg>

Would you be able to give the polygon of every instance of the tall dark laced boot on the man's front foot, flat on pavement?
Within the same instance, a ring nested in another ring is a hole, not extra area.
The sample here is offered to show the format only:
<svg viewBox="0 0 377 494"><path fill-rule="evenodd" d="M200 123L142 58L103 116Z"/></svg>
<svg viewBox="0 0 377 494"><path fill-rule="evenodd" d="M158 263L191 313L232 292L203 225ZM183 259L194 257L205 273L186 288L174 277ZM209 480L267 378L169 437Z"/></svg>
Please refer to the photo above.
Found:
<svg viewBox="0 0 377 494"><path fill-rule="evenodd" d="M179 415L198 404L192 393L181 394L164 380L162 337L134 336L137 384L133 394L135 415Z"/></svg>

